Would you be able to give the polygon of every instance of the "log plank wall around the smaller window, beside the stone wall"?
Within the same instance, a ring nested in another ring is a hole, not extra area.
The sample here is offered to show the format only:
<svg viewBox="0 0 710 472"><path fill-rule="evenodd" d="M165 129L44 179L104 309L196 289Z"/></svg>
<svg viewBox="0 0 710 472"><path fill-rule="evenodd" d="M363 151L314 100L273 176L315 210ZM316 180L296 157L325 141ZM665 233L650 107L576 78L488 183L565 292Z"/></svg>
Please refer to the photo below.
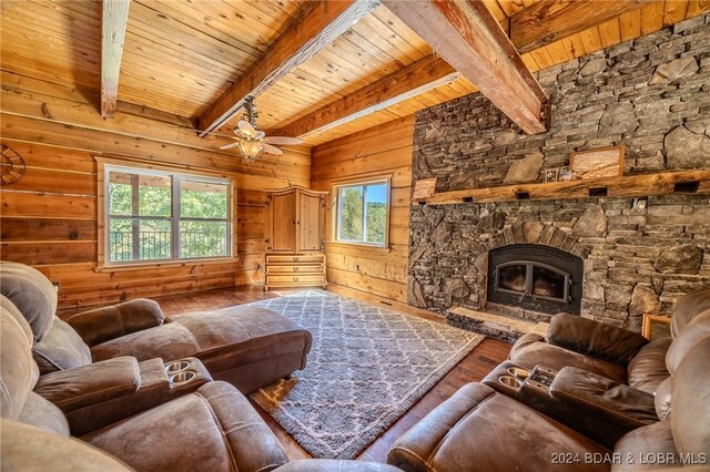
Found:
<svg viewBox="0 0 710 472"><path fill-rule="evenodd" d="M312 188L332 191L344 178L392 175L389 249L332 243L326 215L327 280L395 301L407 301L412 133L407 116L313 147ZM333 201L333 193L328 196Z"/></svg>

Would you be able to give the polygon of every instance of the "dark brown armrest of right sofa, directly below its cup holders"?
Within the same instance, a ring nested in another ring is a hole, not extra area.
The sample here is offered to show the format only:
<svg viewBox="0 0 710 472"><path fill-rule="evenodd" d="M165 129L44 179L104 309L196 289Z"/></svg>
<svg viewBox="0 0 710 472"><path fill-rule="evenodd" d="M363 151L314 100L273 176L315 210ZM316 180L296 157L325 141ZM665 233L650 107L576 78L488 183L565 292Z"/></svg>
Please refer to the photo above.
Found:
<svg viewBox="0 0 710 472"><path fill-rule="evenodd" d="M652 394L576 367L557 373L550 396L566 407L567 425L605 445L658 422Z"/></svg>

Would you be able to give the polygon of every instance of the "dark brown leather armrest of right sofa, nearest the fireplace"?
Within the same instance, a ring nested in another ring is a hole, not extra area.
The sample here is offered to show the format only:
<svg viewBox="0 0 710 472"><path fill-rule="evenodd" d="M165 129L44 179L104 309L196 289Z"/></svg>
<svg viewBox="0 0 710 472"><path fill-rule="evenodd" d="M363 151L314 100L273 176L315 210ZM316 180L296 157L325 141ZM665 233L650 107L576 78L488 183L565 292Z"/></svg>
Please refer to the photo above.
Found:
<svg viewBox="0 0 710 472"><path fill-rule="evenodd" d="M648 339L605 322L559 314L550 320L547 341L597 359L627 366Z"/></svg>

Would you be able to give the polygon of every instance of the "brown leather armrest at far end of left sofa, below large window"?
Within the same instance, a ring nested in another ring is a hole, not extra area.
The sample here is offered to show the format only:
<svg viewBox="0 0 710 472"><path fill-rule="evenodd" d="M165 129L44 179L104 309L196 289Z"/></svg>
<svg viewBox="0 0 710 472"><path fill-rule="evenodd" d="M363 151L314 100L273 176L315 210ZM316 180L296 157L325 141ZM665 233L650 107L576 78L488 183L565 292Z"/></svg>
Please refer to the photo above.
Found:
<svg viewBox="0 0 710 472"><path fill-rule="evenodd" d="M67 318L89 347L160 326L165 315L154 300L139 298Z"/></svg>

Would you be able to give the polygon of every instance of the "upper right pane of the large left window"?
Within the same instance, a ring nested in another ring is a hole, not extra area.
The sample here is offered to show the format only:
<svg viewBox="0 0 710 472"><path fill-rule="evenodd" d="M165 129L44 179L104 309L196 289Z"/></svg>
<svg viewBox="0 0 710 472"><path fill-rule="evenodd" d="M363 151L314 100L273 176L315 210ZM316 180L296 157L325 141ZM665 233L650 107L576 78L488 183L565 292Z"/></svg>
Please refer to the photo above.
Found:
<svg viewBox="0 0 710 472"><path fill-rule="evenodd" d="M226 219L226 184L183 179L180 183L180 213L183 218Z"/></svg>

